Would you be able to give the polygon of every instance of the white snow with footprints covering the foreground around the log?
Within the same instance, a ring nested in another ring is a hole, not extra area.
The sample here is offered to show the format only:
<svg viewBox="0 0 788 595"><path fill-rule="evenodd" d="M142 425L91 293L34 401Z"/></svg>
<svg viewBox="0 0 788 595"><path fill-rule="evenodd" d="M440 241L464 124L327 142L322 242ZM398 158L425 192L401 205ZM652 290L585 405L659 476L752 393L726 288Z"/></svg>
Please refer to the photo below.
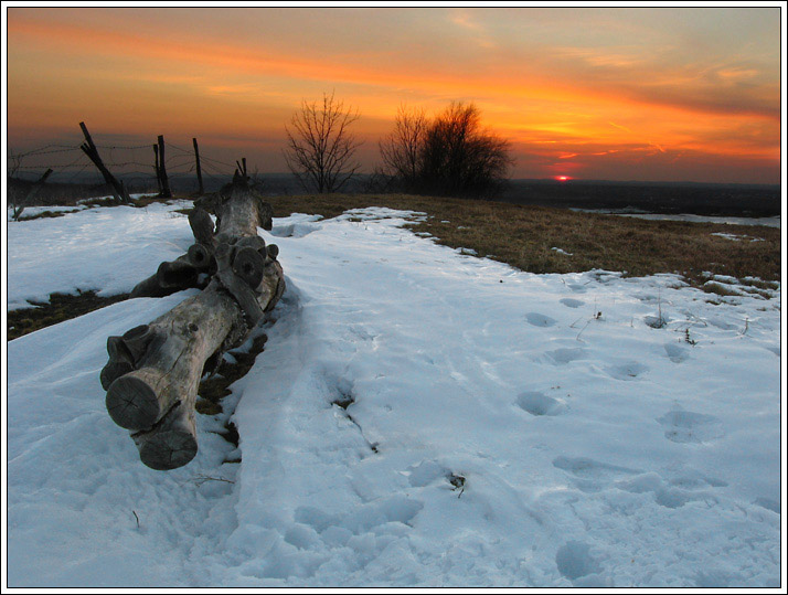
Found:
<svg viewBox="0 0 788 595"><path fill-rule="evenodd" d="M9 308L129 291L182 206L9 223ZM288 288L225 401L239 451L199 416L153 471L104 406L106 338L193 290L9 342L8 586L778 587L780 291L522 273L418 216L260 230Z"/></svg>

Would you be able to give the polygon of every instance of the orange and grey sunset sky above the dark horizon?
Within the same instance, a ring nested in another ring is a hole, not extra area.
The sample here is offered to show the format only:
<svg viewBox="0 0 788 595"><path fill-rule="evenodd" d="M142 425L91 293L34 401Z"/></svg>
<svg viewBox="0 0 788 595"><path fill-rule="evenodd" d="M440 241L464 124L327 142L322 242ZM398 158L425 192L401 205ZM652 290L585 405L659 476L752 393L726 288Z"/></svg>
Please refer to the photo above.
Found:
<svg viewBox="0 0 788 595"><path fill-rule="evenodd" d="M779 183L776 7L9 8L8 147L84 120L285 171L285 125L334 92L366 171L401 104L464 100L514 178Z"/></svg>

